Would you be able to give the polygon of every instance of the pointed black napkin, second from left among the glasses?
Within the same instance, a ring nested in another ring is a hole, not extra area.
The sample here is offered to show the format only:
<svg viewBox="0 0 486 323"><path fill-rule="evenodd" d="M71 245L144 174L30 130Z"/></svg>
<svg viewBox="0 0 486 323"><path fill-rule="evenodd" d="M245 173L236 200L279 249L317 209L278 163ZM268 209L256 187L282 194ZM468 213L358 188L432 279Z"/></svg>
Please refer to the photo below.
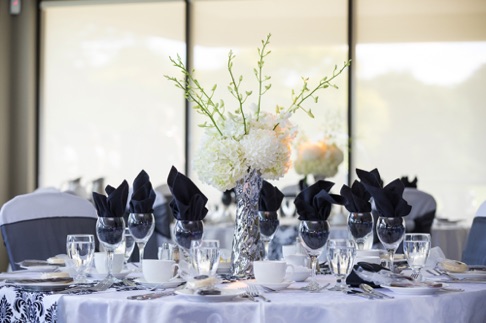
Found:
<svg viewBox="0 0 486 323"><path fill-rule="evenodd" d="M155 191L149 175L142 169L133 181L133 193L130 200L130 213L153 213Z"/></svg>

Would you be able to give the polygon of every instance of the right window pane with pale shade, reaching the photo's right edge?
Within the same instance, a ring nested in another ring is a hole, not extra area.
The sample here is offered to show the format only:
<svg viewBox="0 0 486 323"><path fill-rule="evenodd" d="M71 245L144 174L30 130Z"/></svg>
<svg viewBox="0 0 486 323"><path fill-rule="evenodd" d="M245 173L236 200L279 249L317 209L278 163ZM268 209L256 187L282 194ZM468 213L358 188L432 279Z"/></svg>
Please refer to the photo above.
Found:
<svg viewBox="0 0 486 323"><path fill-rule="evenodd" d="M353 161L409 176L438 217L486 199L486 3L358 2Z"/></svg>

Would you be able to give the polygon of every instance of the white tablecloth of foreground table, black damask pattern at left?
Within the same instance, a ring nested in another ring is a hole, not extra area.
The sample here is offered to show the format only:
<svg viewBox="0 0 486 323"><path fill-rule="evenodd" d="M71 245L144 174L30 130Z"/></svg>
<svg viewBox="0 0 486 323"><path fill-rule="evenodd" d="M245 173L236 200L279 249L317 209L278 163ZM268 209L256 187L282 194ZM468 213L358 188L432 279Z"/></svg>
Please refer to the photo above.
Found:
<svg viewBox="0 0 486 323"><path fill-rule="evenodd" d="M319 283L334 283L319 275ZM153 300L129 300L146 290L114 290L61 295L29 292L12 285L0 287L0 322L486 322L486 284L451 284L464 292L435 295L401 295L387 289L394 299L368 300L342 292L310 293L306 283L266 293L271 302L236 297L224 302L194 301L182 295ZM245 281L222 284L243 288Z"/></svg>

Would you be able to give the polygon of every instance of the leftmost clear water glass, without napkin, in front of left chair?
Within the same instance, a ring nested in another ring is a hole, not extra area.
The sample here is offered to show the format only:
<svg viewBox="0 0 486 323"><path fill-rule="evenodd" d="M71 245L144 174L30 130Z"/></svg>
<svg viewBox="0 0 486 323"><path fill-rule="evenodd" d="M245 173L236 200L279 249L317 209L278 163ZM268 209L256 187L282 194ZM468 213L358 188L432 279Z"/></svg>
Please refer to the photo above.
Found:
<svg viewBox="0 0 486 323"><path fill-rule="evenodd" d="M78 283L85 283L86 269L93 263L94 236L92 234L69 234L66 238L66 251L76 271L74 280Z"/></svg>

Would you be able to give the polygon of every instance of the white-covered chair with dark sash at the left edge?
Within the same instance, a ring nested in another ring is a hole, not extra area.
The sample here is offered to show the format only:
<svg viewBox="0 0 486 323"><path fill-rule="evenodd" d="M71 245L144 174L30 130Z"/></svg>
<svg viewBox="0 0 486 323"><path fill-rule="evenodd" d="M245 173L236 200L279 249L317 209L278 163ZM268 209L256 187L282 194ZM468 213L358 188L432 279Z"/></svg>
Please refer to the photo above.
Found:
<svg viewBox="0 0 486 323"><path fill-rule="evenodd" d="M68 234L96 237L97 218L95 207L87 199L54 189L7 201L0 210L0 228L11 269L20 269L17 263L22 260L66 254Z"/></svg>

